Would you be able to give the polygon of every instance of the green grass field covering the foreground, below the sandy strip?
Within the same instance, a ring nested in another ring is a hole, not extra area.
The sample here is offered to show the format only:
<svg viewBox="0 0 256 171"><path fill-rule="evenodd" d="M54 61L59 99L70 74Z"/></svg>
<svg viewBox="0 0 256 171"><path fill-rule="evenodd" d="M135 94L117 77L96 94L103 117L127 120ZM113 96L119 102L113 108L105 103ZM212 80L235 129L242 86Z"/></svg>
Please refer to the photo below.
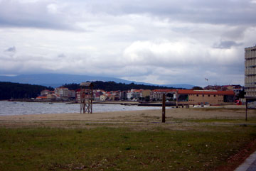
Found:
<svg viewBox="0 0 256 171"><path fill-rule="evenodd" d="M0 170L214 170L256 138L255 126L204 129L0 128Z"/></svg>

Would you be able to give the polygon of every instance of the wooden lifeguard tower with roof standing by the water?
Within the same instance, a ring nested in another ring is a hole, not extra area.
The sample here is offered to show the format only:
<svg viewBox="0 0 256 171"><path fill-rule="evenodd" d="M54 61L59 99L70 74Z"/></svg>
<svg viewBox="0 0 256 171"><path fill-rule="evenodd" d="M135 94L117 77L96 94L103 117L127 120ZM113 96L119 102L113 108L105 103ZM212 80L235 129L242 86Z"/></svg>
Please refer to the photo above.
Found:
<svg viewBox="0 0 256 171"><path fill-rule="evenodd" d="M92 114L93 84L82 82L80 84L80 114Z"/></svg>

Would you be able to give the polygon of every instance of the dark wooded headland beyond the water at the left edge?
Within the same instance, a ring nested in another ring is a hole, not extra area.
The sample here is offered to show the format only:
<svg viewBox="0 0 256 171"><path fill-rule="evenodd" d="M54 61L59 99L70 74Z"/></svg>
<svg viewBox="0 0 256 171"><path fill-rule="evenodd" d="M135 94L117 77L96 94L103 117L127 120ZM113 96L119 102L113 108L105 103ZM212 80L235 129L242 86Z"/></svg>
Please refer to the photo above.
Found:
<svg viewBox="0 0 256 171"><path fill-rule="evenodd" d="M36 98L44 89L53 90L41 85L0 82L0 100Z"/></svg>

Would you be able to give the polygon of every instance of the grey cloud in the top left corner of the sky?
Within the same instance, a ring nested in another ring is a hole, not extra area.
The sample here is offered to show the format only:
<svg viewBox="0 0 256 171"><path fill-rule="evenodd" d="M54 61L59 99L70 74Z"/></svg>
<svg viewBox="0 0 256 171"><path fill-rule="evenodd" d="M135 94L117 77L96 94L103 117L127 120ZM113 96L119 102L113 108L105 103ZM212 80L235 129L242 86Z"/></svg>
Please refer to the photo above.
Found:
<svg viewBox="0 0 256 171"><path fill-rule="evenodd" d="M52 1L0 1L0 26L79 30Z"/></svg>

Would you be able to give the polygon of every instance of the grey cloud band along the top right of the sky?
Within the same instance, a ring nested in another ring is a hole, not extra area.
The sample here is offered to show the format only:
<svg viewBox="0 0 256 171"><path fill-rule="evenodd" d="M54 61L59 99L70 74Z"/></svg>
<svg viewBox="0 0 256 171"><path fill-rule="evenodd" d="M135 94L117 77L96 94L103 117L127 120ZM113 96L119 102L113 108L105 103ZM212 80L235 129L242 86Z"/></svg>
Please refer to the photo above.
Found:
<svg viewBox="0 0 256 171"><path fill-rule="evenodd" d="M198 0L198 1L93 1L88 4L94 13L110 13L112 15L142 14L171 21L196 23L254 25L256 4L250 0ZM107 8L105 6L108 6Z"/></svg>

